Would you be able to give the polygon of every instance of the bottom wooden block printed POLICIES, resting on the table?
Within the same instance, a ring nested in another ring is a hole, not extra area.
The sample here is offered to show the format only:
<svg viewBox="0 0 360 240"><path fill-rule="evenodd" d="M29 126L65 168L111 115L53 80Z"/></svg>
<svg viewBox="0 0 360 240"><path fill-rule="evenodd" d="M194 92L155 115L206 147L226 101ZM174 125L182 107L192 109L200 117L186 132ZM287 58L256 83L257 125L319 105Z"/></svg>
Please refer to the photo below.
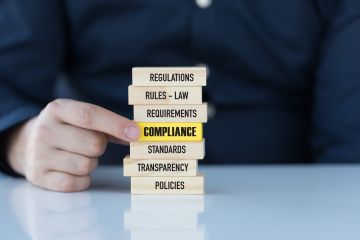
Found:
<svg viewBox="0 0 360 240"><path fill-rule="evenodd" d="M204 194L204 176L132 177L131 194Z"/></svg>

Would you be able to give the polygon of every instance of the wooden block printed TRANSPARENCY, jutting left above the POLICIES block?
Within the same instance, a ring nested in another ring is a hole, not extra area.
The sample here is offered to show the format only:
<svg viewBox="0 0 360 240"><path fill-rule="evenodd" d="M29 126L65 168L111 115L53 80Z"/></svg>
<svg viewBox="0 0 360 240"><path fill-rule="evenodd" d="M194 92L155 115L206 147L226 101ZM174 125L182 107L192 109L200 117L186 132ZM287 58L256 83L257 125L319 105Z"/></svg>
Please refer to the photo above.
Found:
<svg viewBox="0 0 360 240"><path fill-rule="evenodd" d="M197 160L136 160L124 158L124 176L196 176Z"/></svg>

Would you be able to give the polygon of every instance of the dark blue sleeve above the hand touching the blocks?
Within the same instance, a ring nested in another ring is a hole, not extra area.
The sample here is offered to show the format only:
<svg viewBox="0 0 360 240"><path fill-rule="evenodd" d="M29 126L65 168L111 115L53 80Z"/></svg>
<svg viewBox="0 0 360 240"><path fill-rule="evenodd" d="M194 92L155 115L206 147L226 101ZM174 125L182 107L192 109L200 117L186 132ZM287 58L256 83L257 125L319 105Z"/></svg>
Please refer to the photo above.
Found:
<svg viewBox="0 0 360 240"><path fill-rule="evenodd" d="M0 138L53 98L64 62L64 25L56 0L0 1ZM4 144L1 146L4 163Z"/></svg>

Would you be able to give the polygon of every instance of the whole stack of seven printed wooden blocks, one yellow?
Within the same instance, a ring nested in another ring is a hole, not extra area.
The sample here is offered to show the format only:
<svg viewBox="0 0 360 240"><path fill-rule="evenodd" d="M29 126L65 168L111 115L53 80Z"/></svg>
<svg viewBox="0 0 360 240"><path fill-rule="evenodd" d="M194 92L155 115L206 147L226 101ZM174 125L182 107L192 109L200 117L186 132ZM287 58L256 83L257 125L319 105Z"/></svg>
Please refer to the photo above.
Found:
<svg viewBox="0 0 360 240"><path fill-rule="evenodd" d="M129 104L140 138L130 143L124 176L132 194L203 194L198 160L205 156L204 67L136 67Z"/></svg>

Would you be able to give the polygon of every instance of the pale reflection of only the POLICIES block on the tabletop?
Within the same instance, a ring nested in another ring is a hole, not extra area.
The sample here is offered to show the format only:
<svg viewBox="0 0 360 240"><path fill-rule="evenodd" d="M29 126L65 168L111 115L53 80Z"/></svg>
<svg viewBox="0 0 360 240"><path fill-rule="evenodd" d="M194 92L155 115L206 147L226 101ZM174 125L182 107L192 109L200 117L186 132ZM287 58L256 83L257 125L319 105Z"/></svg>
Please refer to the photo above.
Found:
<svg viewBox="0 0 360 240"><path fill-rule="evenodd" d="M205 210L204 195L133 195L132 212L196 212Z"/></svg>

